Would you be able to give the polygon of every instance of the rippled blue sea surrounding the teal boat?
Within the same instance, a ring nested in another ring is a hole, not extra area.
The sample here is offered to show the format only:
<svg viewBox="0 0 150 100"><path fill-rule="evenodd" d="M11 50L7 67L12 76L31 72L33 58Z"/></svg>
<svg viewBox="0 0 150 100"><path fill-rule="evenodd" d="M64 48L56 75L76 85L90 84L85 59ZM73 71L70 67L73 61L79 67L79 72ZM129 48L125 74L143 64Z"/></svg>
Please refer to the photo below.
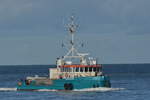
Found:
<svg viewBox="0 0 150 100"><path fill-rule="evenodd" d="M48 76L55 65L0 66L0 100L150 100L150 64L103 64L112 88L16 91L18 80Z"/></svg>

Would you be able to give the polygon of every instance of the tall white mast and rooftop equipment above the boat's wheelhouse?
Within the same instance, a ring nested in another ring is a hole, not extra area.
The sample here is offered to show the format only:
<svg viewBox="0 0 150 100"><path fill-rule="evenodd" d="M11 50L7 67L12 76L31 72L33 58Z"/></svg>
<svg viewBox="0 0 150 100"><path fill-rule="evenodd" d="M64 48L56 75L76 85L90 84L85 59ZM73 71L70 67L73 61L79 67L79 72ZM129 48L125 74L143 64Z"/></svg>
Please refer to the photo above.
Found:
<svg viewBox="0 0 150 100"><path fill-rule="evenodd" d="M74 23L74 16L71 16L70 23L67 25L67 29L70 36L69 50L65 56L62 56L61 59L57 59L57 66L61 66L64 64L72 64L73 61L72 59L76 58L79 59L81 65L88 65L88 62L91 62L90 64L96 64L96 61L94 59L86 57L89 55L89 53L79 53L78 50L76 49L75 33L77 27L78 25Z"/></svg>

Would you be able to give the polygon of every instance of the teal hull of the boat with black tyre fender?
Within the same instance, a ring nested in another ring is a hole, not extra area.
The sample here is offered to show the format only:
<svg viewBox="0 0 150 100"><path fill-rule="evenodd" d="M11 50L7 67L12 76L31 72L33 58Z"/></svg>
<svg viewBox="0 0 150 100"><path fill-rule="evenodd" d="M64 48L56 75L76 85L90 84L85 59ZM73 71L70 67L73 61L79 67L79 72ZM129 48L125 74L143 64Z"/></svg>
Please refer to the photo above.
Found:
<svg viewBox="0 0 150 100"><path fill-rule="evenodd" d="M72 78L57 79L53 80L52 85L35 85L34 81L30 85L26 85L25 82L23 82L22 85L17 86L17 90L38 90L38 89L73 90L73 89L96 88L96 87L111 87L109 78L106 76L95 76L95 77L76 77L73 79Z"/></svg>

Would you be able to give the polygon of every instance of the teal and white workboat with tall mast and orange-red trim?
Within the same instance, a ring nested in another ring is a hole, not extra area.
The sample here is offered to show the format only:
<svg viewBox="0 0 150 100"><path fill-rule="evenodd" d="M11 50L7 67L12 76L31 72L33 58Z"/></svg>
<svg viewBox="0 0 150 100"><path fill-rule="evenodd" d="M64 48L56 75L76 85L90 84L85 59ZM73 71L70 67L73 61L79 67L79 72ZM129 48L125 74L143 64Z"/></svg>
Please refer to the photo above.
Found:
<svg viewBox="0 0 150 100"><path fill-rule="evenodd" d="M17 84L17 90L74 90L98 87L111 87L110 78L102 71L102 64L89 53L80 53L76 48L75 34L78 25L74 16L67 25L70 41L65 56L56 60L56 67L49 68L47 77L28 76ZM64 47L64 44L62 44ZM83 46L83 44L82 44Z"/></svg>

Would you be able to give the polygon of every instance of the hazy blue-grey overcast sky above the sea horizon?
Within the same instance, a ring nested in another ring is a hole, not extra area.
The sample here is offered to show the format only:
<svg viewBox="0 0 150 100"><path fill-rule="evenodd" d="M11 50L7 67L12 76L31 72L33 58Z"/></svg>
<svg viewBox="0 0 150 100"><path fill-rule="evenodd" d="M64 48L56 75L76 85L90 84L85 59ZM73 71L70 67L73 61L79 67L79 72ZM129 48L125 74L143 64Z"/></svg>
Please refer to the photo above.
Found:
<svg viewBox="0 0 150 100"><path fill-rule="evenodd" d="M150 63L149 0L0 0L0 65L55 64L66 51L72 14L77 36L99 63Z"/></svg>

